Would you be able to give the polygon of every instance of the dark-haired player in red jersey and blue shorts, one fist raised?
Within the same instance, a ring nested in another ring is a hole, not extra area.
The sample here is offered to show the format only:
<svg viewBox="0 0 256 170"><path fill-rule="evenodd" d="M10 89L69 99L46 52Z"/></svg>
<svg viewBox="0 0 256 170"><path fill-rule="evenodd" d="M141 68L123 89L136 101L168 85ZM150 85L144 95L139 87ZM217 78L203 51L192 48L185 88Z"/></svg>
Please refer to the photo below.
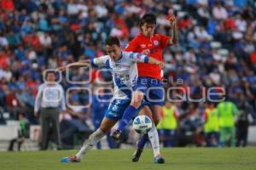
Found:
<svg viewBox="0 0 256 170"><path fill-rule="evenodd" d="M156 26L156 17L154 14L145 14L140 21L141 32L134 37L125 48L125 51L132 51L141 54L148 54L154 59L162 59L162 51L169 45L177 43L177 25L176 18L170 14L167 20L170 20L170 27L172 28L172 35L165 36L154 32ZM154 125L152 129L143 135L137 142L137 150L132 157L132 161L138 161L143 151L144 145L148 139L152 144L154 150L154 162L164 163L165 160L160 156L159 137L155 126L160 121L161 107L164 103L165 90L162 82L162 70L158 65L138 64L138 79L135 91L132 94L131 104L125 110L122 120L119 123L118 129L113 132L113 139L119 139L120 133L123 131L131 118L135 116L137 109L145 99L150 105ZM141 111L144 115L151 114ZM148 115L149 116L149 115ZM151 116L149 116L151 117ZM149 137L149 138L148 138Z"/></svg>

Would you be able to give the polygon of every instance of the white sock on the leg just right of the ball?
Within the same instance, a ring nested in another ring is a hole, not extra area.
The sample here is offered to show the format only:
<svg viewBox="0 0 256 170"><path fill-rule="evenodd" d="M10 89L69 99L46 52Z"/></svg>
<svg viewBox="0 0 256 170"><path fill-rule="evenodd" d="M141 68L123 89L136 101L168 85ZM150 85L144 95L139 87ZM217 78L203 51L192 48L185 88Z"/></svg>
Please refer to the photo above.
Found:
<svg viewBox="0 0 256 170"><path fill-rule="evenodd" d="M156 130L156 127L154 126L154 123L152 125L152 128L148 132L148 139L151 142L152 149L155 156L160 156L160 144L159 144L159 136Z"/></svg>

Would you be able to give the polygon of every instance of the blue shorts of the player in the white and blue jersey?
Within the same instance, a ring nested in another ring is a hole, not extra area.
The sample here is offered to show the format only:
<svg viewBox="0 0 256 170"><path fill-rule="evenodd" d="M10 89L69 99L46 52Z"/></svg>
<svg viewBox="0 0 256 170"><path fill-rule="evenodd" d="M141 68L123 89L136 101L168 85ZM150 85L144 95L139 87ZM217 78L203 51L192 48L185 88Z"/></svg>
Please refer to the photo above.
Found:
<svg viewBox="0 0 256 170"><path fill-rule="evenodd" d="M108 110L105 113L105 117L108 119L116 120L122 118L125 109L131 104L131 99L113 99L110 104L108 105ZM135 116L137 116L138 112L143 108L144 105L148 105L148 102L143 100L143 104L138 108L137 113Z"/></svg>

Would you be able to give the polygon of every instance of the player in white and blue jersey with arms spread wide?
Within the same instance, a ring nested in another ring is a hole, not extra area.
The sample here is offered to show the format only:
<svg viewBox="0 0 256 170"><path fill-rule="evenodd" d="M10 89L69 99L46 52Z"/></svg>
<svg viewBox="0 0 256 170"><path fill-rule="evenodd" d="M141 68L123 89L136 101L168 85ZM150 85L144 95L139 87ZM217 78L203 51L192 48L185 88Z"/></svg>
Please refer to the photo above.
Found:
<svg viewBox="0 0 256 170"><path fill-rule="evenodd" d="M125 108L131 103L132 88L137 82L137 62L160 65L163 62L148 57L147 55L133 52L124 52L117 37L108 37L106 40L107 54L95 59L85 59L70 64L82 66L90 64L92 66L107 66L112 73L114 83L113 99L108 106L108 111L102 120L101 127L92 133L84 142L79 152L74 156L68 156L61 159L61 162L79 162L82 156L90 150L100 139L102 139L116 122L123 116ZM57 71L66 71L70 65L64 65L57 68ZM148 108L148 106L145 106ZM148 108L148 111L150 109Z"/></svg>

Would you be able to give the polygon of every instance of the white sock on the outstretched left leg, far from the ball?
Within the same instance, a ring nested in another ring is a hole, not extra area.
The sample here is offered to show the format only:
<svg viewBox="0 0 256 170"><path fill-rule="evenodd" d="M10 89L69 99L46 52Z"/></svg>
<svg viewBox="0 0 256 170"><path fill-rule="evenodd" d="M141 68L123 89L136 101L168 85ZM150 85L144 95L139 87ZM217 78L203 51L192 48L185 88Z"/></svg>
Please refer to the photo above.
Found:
<svg viewBox="0 0 256 170"><path fill-rule="evenodd" d="M82 156L87 153L91 148L100 141L105 136L105 133L102 132L100 128L98 128L94 133L90 134L89 139L84 141L84 145L76 154L78 159L81 159Z"/></svg>

